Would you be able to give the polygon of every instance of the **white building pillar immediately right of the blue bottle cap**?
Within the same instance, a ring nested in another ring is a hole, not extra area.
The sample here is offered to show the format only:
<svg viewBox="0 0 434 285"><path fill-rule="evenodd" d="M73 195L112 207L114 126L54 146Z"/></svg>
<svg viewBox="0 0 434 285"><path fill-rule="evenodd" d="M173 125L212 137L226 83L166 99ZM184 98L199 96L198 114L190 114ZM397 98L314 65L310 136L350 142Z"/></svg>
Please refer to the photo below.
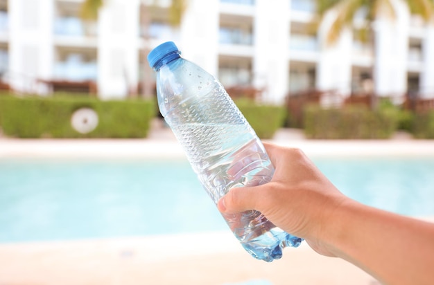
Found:
<svg viewBox="0 0 434 285"><path fill-rule="evenodd" d="M182 57L218 75L219 0L190 0L180 25Z"/></svg>

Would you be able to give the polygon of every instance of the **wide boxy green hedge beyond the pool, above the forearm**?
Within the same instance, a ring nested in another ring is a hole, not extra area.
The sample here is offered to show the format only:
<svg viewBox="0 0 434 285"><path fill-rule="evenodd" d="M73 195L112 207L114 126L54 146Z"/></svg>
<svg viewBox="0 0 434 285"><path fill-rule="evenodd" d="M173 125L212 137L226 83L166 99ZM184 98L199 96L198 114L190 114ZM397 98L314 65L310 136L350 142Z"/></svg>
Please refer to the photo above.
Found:
<svg viewBox="0 0 434 285"><path fill-rule="evenodd" d="M390 138L398 125L393 109L371 111L364 106L322 109L311 105L304 109L304 132L316 139Z"/></svg>

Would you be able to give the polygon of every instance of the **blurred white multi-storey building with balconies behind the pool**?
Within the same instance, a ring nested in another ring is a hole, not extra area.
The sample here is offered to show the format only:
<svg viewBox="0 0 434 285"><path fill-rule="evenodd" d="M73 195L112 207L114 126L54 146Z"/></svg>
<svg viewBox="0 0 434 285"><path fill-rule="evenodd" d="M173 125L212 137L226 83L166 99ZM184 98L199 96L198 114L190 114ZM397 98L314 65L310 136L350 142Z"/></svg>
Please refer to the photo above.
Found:
<svg viewBox="0 0 434 285"><path fill-rule="evenodd" d="M335 46L325 46L327 21L318 35L310 29L313 0L189 0L178 28L168 24L171 0L159 0L159 7L148 10L147 41L141 37L141 0L106 0L93 24L78 17L81 1L0 0L3 82L18 91L48 93L52 86L46 81L92 80L101 98L123 98L150 71L144 69L144 48L172 40L186 59L225 86L263 89L269 102L304 89L348 95L363 88L373 64L376 93L434 97L434 28L399 0L397 19L375 24L375 62L369 46L350 31Z"/></svg>

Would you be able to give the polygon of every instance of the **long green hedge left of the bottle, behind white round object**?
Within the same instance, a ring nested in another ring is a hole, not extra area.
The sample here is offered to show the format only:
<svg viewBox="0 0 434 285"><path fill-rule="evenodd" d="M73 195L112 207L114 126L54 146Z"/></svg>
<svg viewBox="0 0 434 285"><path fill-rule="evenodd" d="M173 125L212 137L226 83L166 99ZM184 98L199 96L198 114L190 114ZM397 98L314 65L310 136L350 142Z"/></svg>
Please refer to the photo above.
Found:
<svg viewBox="0 0 434 285"><path fill-rule="evenodd" d="M98 126L87 134L71 127L71 116L80 108L98 114ZM6 136L17 138L144 138L154 110L154 102L144 100L1 95L0 126Z"/></svg>

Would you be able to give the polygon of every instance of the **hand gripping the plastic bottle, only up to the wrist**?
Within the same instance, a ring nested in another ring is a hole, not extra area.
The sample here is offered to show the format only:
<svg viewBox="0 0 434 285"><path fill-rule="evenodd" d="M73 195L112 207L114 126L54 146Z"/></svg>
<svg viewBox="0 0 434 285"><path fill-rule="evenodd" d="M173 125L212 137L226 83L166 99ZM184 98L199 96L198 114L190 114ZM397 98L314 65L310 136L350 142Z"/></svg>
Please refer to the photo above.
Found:
<svg viewBox="0 0 434 285"><path fill-rule="evenodd" d="M275 165L270 183L232 188L220 201L223 214L259 210L291 235L306 239L322 255L333 256L324 243L324 226L341 203L349 201L300 149L264 143Z"/></svg>

